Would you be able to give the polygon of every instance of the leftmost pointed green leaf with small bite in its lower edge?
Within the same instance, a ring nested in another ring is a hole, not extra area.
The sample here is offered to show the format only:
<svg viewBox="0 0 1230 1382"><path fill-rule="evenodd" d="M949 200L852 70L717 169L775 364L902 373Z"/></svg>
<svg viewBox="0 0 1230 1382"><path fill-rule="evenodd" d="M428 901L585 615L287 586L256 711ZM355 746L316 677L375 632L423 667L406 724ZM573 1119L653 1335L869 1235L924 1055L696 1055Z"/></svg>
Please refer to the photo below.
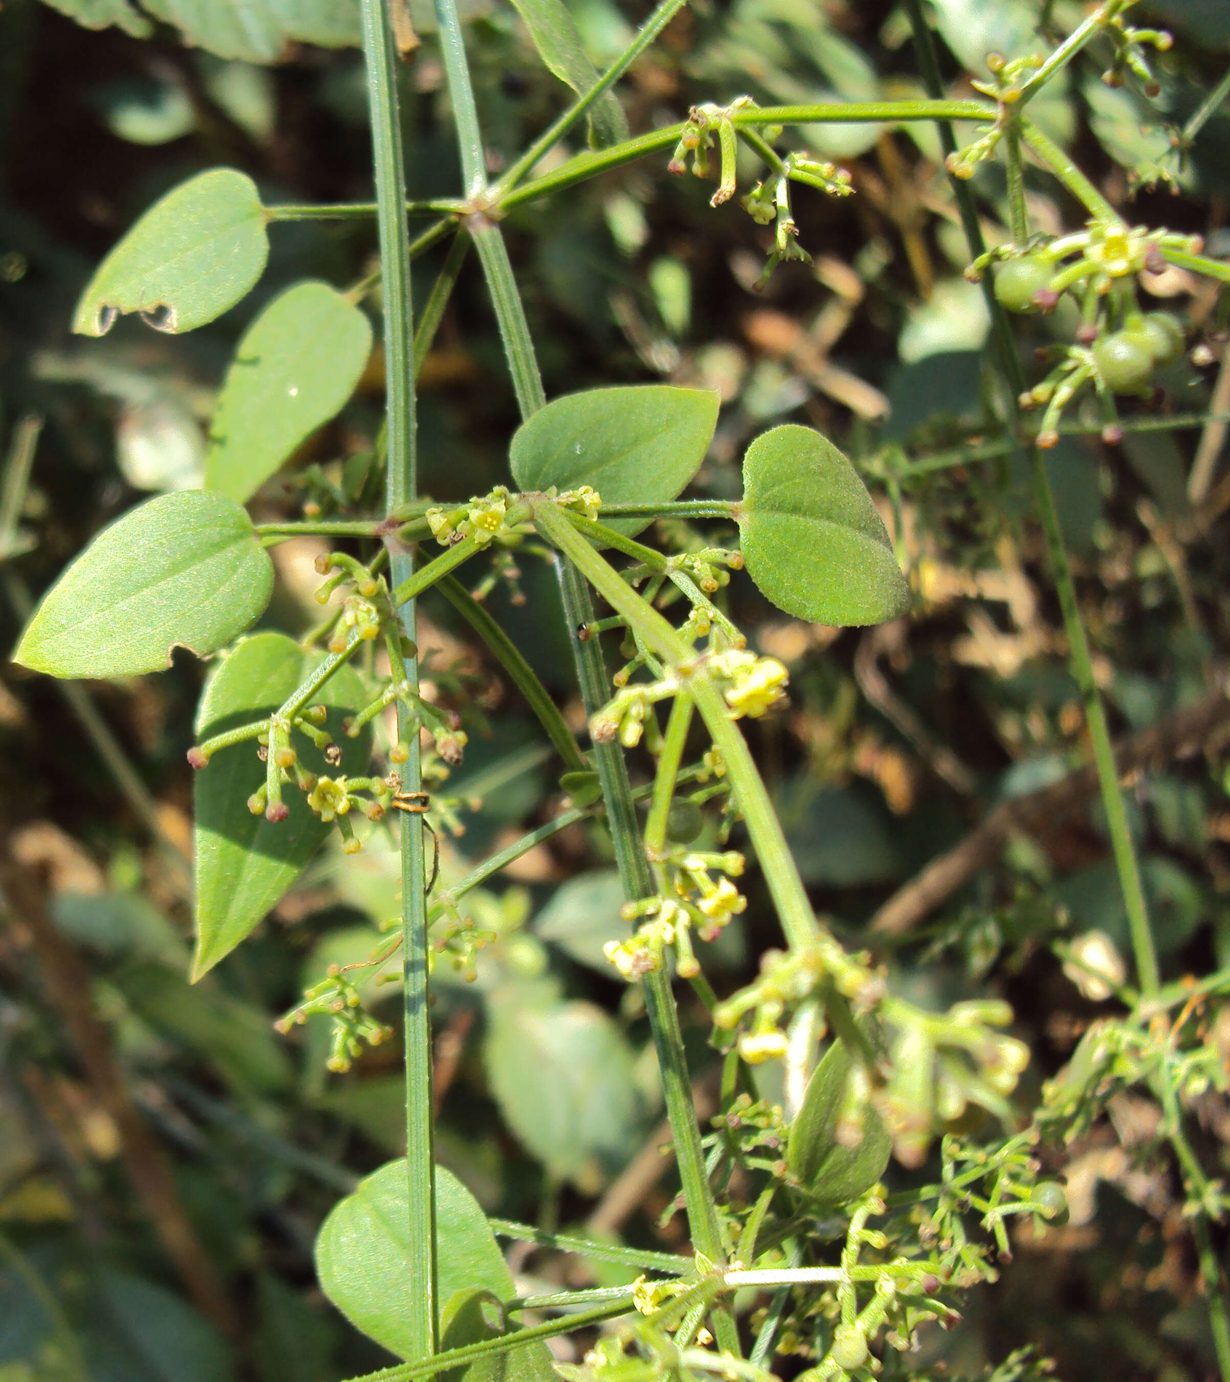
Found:
<svg viewBox="0 0 1230 1382"><path fill-rule="evenodd" d="M90 543L43 596L14 662L54 677L126 677L205 656L269 603L274 565L223 495L160 495Z"/></svg>

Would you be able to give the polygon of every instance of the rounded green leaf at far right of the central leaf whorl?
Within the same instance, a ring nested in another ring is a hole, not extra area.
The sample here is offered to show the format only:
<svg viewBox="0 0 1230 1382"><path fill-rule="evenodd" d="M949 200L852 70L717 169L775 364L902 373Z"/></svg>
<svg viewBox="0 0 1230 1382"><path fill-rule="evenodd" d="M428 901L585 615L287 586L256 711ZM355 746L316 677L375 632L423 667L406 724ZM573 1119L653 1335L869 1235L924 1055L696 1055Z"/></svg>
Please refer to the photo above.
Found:
<svg viewBox="0 0 1230 1382"><path fill-rule="evenodd" d="M909 608L909 587L862 481L836 446L786 423L744 457L744 560L760 590L814 623L865 625Z"/></svg>

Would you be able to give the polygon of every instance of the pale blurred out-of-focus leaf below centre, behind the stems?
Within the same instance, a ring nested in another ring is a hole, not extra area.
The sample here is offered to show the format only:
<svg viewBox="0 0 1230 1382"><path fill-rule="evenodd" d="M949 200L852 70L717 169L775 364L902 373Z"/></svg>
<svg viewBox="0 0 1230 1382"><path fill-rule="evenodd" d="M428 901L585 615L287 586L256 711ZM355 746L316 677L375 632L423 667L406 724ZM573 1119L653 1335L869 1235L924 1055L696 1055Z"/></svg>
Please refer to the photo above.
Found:
<svg viewBox="0 0 1230 1382"><path fill-rule="evenodd" d="M524 987L493 992L486 1078L509 1126L554 1176L600 1190L638 1144L644 1108L627 1038L587 1002L533 1002Z"/></svg>

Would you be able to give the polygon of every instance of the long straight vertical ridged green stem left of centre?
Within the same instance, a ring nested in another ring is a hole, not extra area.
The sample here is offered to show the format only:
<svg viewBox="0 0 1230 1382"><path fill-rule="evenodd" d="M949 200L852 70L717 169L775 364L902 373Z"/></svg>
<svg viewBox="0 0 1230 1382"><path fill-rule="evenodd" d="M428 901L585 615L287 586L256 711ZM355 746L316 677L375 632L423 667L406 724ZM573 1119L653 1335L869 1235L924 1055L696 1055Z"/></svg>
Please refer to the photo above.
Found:
<svg viewBox="0 0 1230 1382"><path fill-rule="evenodd" d="M380 265L384 279L386 423L388 466L386 511L413 502L416 478L415 348L410 299L410 246L406 227L405 160L397 101L397 48L387 0L362 0L363 57L368 66L368 101L376 171ZM413 558L401 545L390 547L390 578L401 622L413 648L415 605L406 594ZM419 666L412 655L406 680L417 690ZM402 767L406 791L422 786L419 727L398 702L398 734L409 749ZM427 994L427 889L424 876L423 817L401 821L402 875L402 976L406 1052L406 1184L409 1269L404 1318L415 1357L430 1359L437 1349L435 1273L435 1157L433 1153L431 1014Z"/></svg>

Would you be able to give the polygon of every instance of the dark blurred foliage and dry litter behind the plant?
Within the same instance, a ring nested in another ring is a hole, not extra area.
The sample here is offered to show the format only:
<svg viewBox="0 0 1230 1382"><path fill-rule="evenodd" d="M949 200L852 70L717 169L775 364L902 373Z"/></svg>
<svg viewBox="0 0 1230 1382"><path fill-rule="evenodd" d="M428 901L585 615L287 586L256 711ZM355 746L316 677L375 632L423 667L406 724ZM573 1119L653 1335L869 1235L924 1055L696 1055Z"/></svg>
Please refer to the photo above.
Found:
<svg viewBox="0 0 1230 1382"><path fill-rule="evenodd" d="M278 224L257 290L210 326L176 337L127 319L97 341L69 336L102 253L202 169L242 169L267 203L372 195L359 54L285 36L218 37L209 26L224 8L180 6L199 47L146 25L123 0L94 8L100 22L120 19L98 32L37 0L0 8L10 481L33 456L19 511L4 509L6 645L30 598L104 522L144 492L200 482L205 420L256 312L290 282L347 286L373 268L369 221ZM569 8L598 68L647 12L636 0ZM1039 21L1066 33L1082 12L1072 0L929 7L955 94L992 48L1028 53ZM1165 0L1139 14L1176 35L1157 100L1104 86L1089 54L1035 102L1034 117L1130 220L1204 234L1208 252L1224 257L1230 112L1208 120L1186 158L1172 131L1223 75L1230 8ZM423 43L402 73L410 195L456 195L430 14L415 8L413 18ZM1133 19L1144 22L1136 10ZM496 171L565 91L503 0L474 0L467 21ZM346 22L316 36L346 43ZM695 0L621 87L634 131L744 93L764 104L923 94L905 14L891 0ZM791 668L792 706L755 728L757 757L817 908L860 944L929 860L967 842L992 808L1064 779L1085 744L1027 477L995 445L1002 399L988 319L961 276L966 252L938 138L920 124L821 126L799 142L849 166L857 195L796 196L814 260L784 265L763 293L753 287L768 232L734 203L710 210L709 188L670 178L665 159L518 209L506 228L549 395L655 379L716 388L723 410L697 493L737 496L746 442L799 420L838 441L882 502L918 591L911 621L808 627L784 621L745 580L730 591L753 645ZM988 242L1006 239L1001 174L980 173L974 191ZM1048 177L1031 170L1027 191L1037 228L1079 225L1079 209ZM438 254L416 265L420 301L438 265ZM1215 289L1180 269L1148 286L1205 343L1195 365L1164 380L1164 412L1226 413ZM1071 339L1072 326L1035 318L1025 347ZM337 422L263 489L258 517L296 515L304 499L328 500L330 486L354 478L361 464L343 463L372 446L381 381L377 351ZM424 492L456 500L506 481L515 420L469 264L422 377ZM1128 426L1121 448L1104 448L1092 422L1048 455L1119 735L1168 724L1218 690L1230 619L1224 423ZM311 625L318 550L311 540L275 549L267 626L297 634ZM489 605L579 723L549 571L527 561L522 593L525 603L499 585ZM428 598L423 618L428 677L446 680L457 665L474 677L470 748L448 788L463 803L459 832L442 843L448 884L546 820L561 793L531 717L448 607ZM46 883L46 898L36 891L18 907L4 882L11 911L0 930L4 1382L325 1382L384 1359L323 1302L311 1244L339 1194L401 1150L399 1052L388 1042L329 1074L323 1019L287 1039L272 1021L330 963L370 952L375 927L397 911L395 855L369 849L343 860L330 847L247 945L189 987L184 753L203 670L182 656L156 679L68 692L11 666L0 673L4 849ZM1194 738L1142 761L1132 793L1171 978L1230 963L1223 717L1207 719ZM633 771L644 775L644 764ZM891 983L914 1001L940 1007L985 992L1013 1003L1016 1032L1034 1050L1019 1095L1025 1114L1106 1010L1106 991L1072 956L1113 972L1128 954L1088 797L1074 795L1064 815L1012 817L961 886L891 937ZM752 907L706 965L720 991L746 983L778 943L767 900L750 887ZM670 1247L684 1230L669 1212L663 1220L677 1183L655 1150L662 1111L647 1025L636 991L601 958L625 925L618 900L609 847L582 826L466 900L492 940L474 983L438 970L438 1150L492 1213ZM395 985L366 996L397 1021ZM690 1001L697 1100L712 1114L717 1057ZM1224 1050L1230 1031L1211 1039ZM763 1067L763 1082L782 1097L777 1067ZM1078 1142L1045 1151L1067 1182L1070 1224L1037 1241L1017 1236L999 1284L974 1292L965 1323L931 1342L927 1368L977 1374L1034 1343L1068 1378L1209 1372L1182 1197L1165 1169L1137 1155L1158 1117L1144 1096L1124 1096ZM1211 1093L1197 1125L1205 1165L1224 1173L1230 1107ZM524 1247L513 1266L527 1291L547 1278L585 1284L575 1262ZM569 1345L560 1347L568 1356Z"/></svg>

